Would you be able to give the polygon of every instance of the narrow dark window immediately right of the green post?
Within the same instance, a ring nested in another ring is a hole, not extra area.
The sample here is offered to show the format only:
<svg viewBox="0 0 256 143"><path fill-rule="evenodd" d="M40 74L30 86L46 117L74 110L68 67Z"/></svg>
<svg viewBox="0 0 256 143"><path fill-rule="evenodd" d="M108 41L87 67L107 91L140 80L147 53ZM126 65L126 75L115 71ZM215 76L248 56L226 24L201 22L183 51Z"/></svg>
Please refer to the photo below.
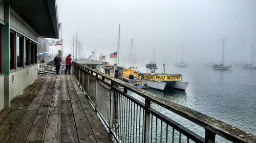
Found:
<svg viewBox="0 0 256 143"><path fill-rule="evenodd" d="M15 69L15 37L14 32L10 31L10 70Z"/></svg>

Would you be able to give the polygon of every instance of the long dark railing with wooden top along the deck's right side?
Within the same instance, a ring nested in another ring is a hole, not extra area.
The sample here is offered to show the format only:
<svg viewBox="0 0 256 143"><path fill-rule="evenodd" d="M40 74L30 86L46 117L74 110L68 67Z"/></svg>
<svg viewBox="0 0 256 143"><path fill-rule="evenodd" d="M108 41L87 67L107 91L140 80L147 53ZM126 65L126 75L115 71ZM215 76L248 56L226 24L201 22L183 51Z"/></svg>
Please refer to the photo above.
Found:
<svg viewBox="0 0 256 143"><path fill-rule="evenodd" d="M256 142L251 133L75 62L73 74L117 142L216 142L217 135L224 142ZM201 126L204 135L153 105Z"/></svg>

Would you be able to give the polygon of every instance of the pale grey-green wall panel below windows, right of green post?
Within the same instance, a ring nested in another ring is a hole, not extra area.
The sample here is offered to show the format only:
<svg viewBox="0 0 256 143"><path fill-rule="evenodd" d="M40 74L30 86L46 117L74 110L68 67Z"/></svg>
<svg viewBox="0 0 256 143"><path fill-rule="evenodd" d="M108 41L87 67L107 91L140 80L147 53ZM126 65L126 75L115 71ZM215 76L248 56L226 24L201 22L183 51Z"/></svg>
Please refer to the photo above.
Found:
<svg viewBox="0 0 256 143"><path fill-rule="evenodd" d="M29 74L27 75L27 70ZM16 81L13 83L13 75ZM22 92L37 78L37 65L21 69L9 74L9 101Z"/></svg>

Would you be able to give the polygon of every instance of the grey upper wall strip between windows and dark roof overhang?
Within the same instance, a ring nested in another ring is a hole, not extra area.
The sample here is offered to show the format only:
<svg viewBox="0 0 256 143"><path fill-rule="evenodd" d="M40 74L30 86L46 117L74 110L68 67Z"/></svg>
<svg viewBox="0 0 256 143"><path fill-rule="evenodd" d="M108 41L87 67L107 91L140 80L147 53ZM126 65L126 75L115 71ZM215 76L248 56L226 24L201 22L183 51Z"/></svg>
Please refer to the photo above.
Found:
<svg viewBox="0 0 256 143"><path fill-rule="evenodd" d="M14 10L10 12L10 25L37 42L38 34Z"/></svg>

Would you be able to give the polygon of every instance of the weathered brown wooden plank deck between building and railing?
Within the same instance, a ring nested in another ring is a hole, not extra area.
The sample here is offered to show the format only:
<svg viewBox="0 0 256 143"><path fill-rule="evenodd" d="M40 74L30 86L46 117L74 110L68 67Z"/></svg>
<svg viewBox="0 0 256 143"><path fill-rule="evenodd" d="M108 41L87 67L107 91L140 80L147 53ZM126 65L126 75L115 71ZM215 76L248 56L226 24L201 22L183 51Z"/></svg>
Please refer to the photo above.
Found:
<svg viewBox="0 0 256 143"><path fill-rule="evenodd" d="M0 112L0 142L112 142L73 74L41 74Z"/></svg>

